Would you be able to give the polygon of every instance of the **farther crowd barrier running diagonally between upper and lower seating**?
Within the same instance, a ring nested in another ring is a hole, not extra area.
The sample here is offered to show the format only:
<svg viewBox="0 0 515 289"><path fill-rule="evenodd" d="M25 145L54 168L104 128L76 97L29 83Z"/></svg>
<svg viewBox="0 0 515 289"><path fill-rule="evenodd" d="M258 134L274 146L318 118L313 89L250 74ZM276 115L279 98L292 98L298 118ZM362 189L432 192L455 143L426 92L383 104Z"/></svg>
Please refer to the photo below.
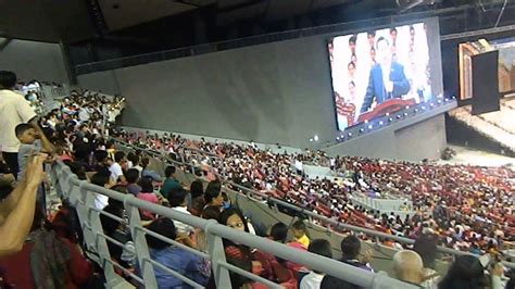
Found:
<svg viewBox="0 0 515 289"><path fill-rule="evenodd" d="M125 148L125 149L128 149L128 150L142 150L147 154L152 155L156 160L162 161L163 165L161 167L155 167L156 171L161 174L163 174L164 165L166 165L166 164L173 164L173 165L177 165L179 167L188 167L188 166L193 167L192 164L171 160L171 159L164 156L160 152L152 151L152 150L146 150L146 149L141 149L141 148L138 148L138 147L134 147L129 143L126 143L124 141L116 140L116 139L115 139L115 141L122 148ZM202 153L203 151L197 150L197 152ZM203 153L208 153L208 152L203 152ZM212 156L212 158L214 158L214 156ZM187 184L191 183L196 178L196 176L191 176L189 174L186 174L186 172L181 172L181 174L183 174L181 178L185 181L187 181ZM223 178L221 178L221 179L224 180ZM319 214L314 213L312 211L307 211L307 210L305 210L303 208L300 208L298 205L294 205L292 203L285 202L280 199L276 199L274 197L271 197L271 196L266 194L265 192L255 191L255 190L249 189L247 187L242 187L242 186L240 186L238 184L235 184L235 183L231 183L231 181L223 181L223 184L224 184L223 189L226 192L228 192L229 196L235 192L234 190L229 189L229 187L230 187L230 188L234 188L234 189L238 190L237 193L244 194L248 198L251 198L251 199L254 199L254 200L258 200L258 201L259 200L266 201L267 205L272 206L274 209L274 211L276 211L276 212L279 211L279 208L281 208L281 209L287 209L288 211L292 212L296 215L305 216L311 222L315 222L318 225L325 226L327 228L328 234L330 234L330 231L332 231L332 230L343 230L343 231L350 231L350 233L354 233L354 234L364 234L364 235L370 237L373 240L387 239L387 240L393 240L393 241L399 242L401 244L413 244L413 243L415 243L415 240L410 239L410 238L400 237L400 236L395 236L395 235L390 235L390 234L381 233L381 231L378 231L378 230L368 229L368 228L364 228L364 227L359 227L359 226L341 223L341 222L338 222L338 221L332 219L332 218L328 218L326 216L319 215ZM472 255L472 253L469 253L469 252L454 250L454 249L442 247L442 246L438 247L438 251L441 254L447 254L447 255L455 255L455 256L457 256L457 255ZM513 263L513 262L503 261L502 264L505 267L515 268L515 263Z"/></svg>

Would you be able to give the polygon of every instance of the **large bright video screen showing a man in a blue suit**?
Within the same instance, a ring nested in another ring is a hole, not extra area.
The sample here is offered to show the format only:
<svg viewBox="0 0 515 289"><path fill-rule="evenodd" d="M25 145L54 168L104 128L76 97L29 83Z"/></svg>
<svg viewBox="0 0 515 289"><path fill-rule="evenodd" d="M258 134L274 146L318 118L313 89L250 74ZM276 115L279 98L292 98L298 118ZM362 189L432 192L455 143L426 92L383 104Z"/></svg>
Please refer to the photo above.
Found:
<svg viewBox="0 0 515 289"><path fill-rule="evenodd" d="M392 102L432 98L424 23L337 36L328 51L340 130L380 116Z"/></svg>

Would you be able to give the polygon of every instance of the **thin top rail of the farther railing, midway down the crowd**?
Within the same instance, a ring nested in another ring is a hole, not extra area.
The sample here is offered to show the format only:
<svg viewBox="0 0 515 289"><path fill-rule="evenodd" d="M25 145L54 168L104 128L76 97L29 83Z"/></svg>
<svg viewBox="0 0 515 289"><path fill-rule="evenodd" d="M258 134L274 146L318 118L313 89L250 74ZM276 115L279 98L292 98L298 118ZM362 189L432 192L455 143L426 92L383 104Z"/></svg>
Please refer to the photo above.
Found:
<svg viewBox="0 0 515 289"><path fill-rule="evenodd" d="M125 144L128 146L128 148L134 148L134 146L129 144L129 143L126 143ZM146 151L146 150L143 150ZM171 160L169 158L164 158L162 154L159 156L160 159L162 160L165 160L165 161L174 161L174 160ZM381 233L381 231L377 231L377 230L373 230L373 229L367 229L367 228L364 228L364 227L359 227L359 226L354 226L354 225L349 225L349 224L346 224L346 223L341 223L341 222L338 222L338 221L335 221L335 219L331 219L331 218L328 218L326 216L323 216L323 215L319 215L319 214L316 214L316 213L313 213L312 211L309 211L309 210L305 210L305 209L302 209L298 205L294 205L292 203L289 203L289 202L285 202L282 200L279 200L275 197L271 197L266 193L263 193L263 192L260 192L260 191L255 191L255 190L252 190L252 189L249 189L247 187L243 187L241 185L238 185L238 184L235 184L233 181L226 181L224 179L221 179L223 181L223 184L225 185L225 187L227 185L230 185L235 188L238 188L240 190L243 190L246 192L246 194L254 194L254 196L258 196L260 198L262 198L263 200L266 200L267 202L272 202L272 203L275 203L277 205L280 205L280 206L285 206L287 209L290 209L290 210L293 210L296 211L297 213L301 213L301 214L304 214L304 215L307 215L310 216L311 218L314 218L314 219L317 219L322 223L325 223L325 224L329 224L329 225L332 225L335 228L343 228L343 229L347 229L347 230L351 230L351 231L356 231L356 233L363 233L365 235L368 235L368 236L372 236L372 237L376 237L376 238L384 238L384 239L389 239L389 240L394 240L394 241L398 241L400 243L404 243L404 244L413 244L415 243L415 240L414 239L410 239L410 238L405 238L405 237L399 237L399 236L395 236L395 235L390 235L390 234L386 234L386 233ZM447 253L447 254L452 254L452 255L474 255L473 253L469 253L469 252L465 252L465 251L460 251L460 250L454 250L454 249L451 249L451 248L447 248L447 247L443 247L443 246L438 246L437 247L438 251L442 252L442 253ZM514 262L506 262L506 261L503 261L502 264L506 267L510 267L510 268L515 268L515 263Z"/></svg>

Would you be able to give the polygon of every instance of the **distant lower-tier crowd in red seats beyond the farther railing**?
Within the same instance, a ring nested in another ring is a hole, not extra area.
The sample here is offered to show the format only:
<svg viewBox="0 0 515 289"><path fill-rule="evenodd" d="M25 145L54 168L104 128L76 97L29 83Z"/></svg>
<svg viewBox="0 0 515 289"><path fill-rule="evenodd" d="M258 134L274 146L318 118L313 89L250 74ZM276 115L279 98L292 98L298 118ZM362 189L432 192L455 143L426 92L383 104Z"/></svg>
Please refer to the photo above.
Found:
<svg viewBox="0 0 515 289"><path fill-rule="evenodd" d="M215 154L219 159L199 158L197 164L210 165L208 172L226 180L348 224L409 238L429 230L440 237L440 244L477 254L502 250L515 238L515 172L508 167L328 158L310 151L291 155L251 143L196 141L166 134L120 131L116 137L174 159L191 161L184 148ZM296 168L299 161L330 166L342 178L310 179ZM413 213L401 217L353 205L351 194L404 198L412 202ZM385 243L393 246L388 240Z"/></svg>

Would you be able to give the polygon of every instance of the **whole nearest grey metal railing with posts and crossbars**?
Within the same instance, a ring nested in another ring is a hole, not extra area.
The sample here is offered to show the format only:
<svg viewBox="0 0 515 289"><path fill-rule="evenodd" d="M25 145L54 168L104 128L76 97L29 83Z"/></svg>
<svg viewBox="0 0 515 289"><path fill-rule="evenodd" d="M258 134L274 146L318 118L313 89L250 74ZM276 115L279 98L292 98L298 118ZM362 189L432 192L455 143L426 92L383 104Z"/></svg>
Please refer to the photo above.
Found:
<svg viewBox="0 0 515 289"><path fill-rule="evenodd" d="M108 281L106 286L109 288L115 287L123 282L123 279L120 277L120 275L115 273L115 268L122 271L135 282L140 284L147 288L158 287L154 268L162 269L194 288L202 288L202 285L199 285L193 280L181 276L179 273L152 260L147 246L146 235L151 235L162 241L169 243L171 246L180 247L181 249L188 250L190 253L211 261L212 278L214 278L217 288L231 288L229 272L242 275L253 281L264 284L269 288L281 288L278 284L272 282L260 276L253 275L250 272L229 264L225 257L223 239L228 239L236 243L244 244L249 248L274 254L277 257L305 265L311 269L324 272L328 275L336 276L342 280L364 288L415 288L412 285L390 278L384 273L374 274L351 265L347 265L336 260L323 257L310 252L300 252L297 249L274 242L266 238L241 233L227 226L219 225L215 221L206 221L196 216L183 214L169 208L139 200L131 194L124 194L92 185L86 180L79 180L77 176L72 173L70 167L64 165L61 161L58 161L52 166L51 175L52 181L54 183L58 192L63 196L63 198L67 199L70 203L77 210L87 250L89 252L93 252L93 254L98 256L97 261L103 268ZM110 199L122 202L128 214L128 218L124 221L112 214L96 209L96 194L103 194ZM139 210L146 210L160 216L199 228L205 234L208 241L208 253L187 248L175 240L167 239L146 229L141 225ZM117 222L125 222L130 228L130 234L136 244L135 250L131 250L125 244L114 240L110 236L106 236L104 234L102 223L100 222L100 215L104 215ZM109 252L108 242L120 246L123 249L135 253L139 267L141 268L140 274L136 275L113 261Z"/></svg>

